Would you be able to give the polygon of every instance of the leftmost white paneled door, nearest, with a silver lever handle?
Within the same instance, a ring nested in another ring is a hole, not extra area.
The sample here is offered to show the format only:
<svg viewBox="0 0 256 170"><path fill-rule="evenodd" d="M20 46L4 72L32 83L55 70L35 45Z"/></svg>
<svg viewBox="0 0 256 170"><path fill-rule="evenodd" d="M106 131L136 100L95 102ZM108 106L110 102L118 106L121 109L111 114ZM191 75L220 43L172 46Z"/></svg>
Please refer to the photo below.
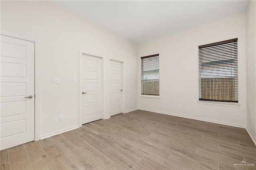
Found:
<svg viewBox="0 0 256 170"><path fill-rule="evenodd" d="M3 150L34 140L34 42L1 35L0 46Z"/></svg>

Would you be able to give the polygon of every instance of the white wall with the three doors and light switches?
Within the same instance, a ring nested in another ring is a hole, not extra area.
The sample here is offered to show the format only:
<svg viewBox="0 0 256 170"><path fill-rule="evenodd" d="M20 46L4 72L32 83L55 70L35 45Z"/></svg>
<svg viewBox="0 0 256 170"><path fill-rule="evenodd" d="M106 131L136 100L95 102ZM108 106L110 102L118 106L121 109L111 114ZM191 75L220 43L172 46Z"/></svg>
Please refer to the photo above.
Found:
<svg viewBox="0 0 256 170"><path fill-rule="evenodd" d="M125 109L138 107L136 44L47 1L1 1L2 31L36 41L41 137L79 125L79 83L72 83L79 77L79 49L123 61ZM59 77L60 84L52 84L53 77ZM104 112L105 118L110 117L110 111ZM59 115L64 121L58 120Z"/></svg>

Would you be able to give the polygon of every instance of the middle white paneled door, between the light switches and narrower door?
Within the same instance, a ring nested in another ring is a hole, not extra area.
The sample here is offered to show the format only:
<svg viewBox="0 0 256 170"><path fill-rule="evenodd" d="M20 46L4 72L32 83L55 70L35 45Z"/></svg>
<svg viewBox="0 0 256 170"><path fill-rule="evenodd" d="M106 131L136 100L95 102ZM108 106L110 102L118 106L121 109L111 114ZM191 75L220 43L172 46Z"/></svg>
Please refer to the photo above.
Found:
<svg viewBox="0 0 256 170"><path fill-rule="evenodd" d="M102 59L82 55L82 124L102 119Z"/></svg>

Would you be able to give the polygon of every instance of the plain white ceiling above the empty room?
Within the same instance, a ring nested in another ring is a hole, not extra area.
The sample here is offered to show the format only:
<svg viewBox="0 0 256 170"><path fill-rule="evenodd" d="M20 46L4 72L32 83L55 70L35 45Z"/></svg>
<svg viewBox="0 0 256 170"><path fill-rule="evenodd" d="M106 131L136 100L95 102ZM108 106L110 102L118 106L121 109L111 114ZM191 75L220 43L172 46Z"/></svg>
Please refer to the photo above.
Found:
<svg viewBox="0 0 256 170"><path fill-rule="evenodd" d="M248 0L54 3L132 42L142 43L245 12Z"/></svg>

